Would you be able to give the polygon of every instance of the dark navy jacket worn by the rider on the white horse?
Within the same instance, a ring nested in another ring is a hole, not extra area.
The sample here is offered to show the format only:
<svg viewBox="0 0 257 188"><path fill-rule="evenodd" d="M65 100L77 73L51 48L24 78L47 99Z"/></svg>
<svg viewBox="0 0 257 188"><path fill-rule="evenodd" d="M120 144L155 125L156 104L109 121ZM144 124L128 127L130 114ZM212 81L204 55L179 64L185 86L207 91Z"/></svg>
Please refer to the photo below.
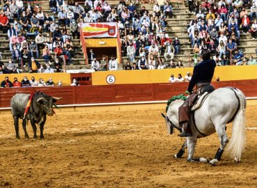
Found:
<svg viewBox="0 0 257 188"><path fill-rule="evenodd" d="M194 66L192 79L188 85L188 92L192 93L192 89L198 83L208 83L213 78L216 63L213 59L201 61Z"/></svg>

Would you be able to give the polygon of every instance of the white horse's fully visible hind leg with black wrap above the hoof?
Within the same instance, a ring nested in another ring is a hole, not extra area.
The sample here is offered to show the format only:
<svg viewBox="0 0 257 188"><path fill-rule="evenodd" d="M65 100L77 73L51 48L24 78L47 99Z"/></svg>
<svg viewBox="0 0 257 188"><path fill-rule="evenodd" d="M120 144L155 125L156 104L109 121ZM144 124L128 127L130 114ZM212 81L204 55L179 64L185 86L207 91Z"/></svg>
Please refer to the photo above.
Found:
<svg viewBox="0 0 257 188"><path fill-rule="evenodd" d="M226 143L229 142L229 138L226 135L226 124L222 126L215 126L217 135L219 136L220 147L217 150L214 159L210 161L210 164L216 165L217 162L222 158L222 153L226 147Z"/></svg>

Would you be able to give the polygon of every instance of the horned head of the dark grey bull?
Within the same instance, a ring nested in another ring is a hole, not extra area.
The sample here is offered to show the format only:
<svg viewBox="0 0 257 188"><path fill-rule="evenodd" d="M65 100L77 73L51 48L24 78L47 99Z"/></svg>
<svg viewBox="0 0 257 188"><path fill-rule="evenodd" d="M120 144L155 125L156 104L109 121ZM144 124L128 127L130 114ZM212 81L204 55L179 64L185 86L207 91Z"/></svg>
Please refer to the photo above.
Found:
<svg viewBox="0 0 257 188"><path fill-rule="evenodd" d="M60 100L60 97L51 97L49 95L42 95L39 97L37 102L43 105L44 112L47 113L48 116L53 116L53 105L57 100Z"/></svg>

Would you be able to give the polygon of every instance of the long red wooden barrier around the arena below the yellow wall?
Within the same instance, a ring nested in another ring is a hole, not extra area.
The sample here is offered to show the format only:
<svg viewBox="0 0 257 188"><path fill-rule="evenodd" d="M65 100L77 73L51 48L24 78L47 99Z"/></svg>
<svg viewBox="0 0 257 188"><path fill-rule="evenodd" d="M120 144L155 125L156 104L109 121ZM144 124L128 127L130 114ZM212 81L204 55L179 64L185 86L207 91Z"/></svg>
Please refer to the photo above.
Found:
<svg viewBox="0 0 257 188"><path fill-rule="evenodd" d="M257 97L257 79L219 81L212 84L215 88L233 86L242 90L246 97ZM15 93L42 91L51 96L63 97L57 104L93 104L168 100L173 95L185 93L187 88L188 83L1 88L0 107L10 107L10 99Z"/></svg>

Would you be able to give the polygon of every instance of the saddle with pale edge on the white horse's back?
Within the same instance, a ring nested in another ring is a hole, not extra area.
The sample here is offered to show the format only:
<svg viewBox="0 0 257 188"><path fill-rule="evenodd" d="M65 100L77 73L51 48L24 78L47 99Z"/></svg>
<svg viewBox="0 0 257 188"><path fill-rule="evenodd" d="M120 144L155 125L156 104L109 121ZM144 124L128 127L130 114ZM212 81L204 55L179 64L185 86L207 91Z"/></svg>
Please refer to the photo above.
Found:
<svg viewBox="0 0 257 188"><path fill-rule="evenodd" d="M207 99L207 97L215 91L215 88L211 85L204 86L200 89L199 94L197 95L197 100L194 102L192 107L190 108L190 111L195 111L201 107L201 105L204 104L204 101Z"/></svg>

